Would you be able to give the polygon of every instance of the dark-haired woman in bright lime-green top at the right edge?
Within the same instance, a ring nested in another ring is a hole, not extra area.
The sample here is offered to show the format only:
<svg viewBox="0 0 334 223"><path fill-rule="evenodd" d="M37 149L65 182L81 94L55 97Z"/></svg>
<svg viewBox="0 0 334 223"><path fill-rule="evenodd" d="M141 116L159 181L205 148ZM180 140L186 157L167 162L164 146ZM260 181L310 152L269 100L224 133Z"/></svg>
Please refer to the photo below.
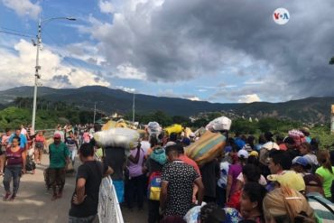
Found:
<svg viewBox="0 0 334 223"><path fill-rule="evenodd" d="M320 150L318 152L318 162L321 165L315 172L322 181L322 187L325 192L325 197L331 200L330 186L334 181L334 168L330 163L330 155L328 150Z"/></svg>

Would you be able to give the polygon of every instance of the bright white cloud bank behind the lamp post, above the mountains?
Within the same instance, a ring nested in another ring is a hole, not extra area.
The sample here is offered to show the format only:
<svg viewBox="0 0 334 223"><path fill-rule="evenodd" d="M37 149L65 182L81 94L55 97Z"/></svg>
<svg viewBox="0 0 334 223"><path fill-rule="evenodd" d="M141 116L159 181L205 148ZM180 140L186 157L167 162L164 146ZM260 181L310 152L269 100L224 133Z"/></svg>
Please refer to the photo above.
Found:
<svg viewBox="0 0 334 223"><path fill-rule="evenodd" d="M33 73L36 60L35 48L31 42L21 40L14 44L14 52L0 48L0 88L21 85L33 85ZM19 66L18 66L19 65ZM80 67L68 66L62 62L60 55L44 48L40 52L43 86L51 88L79 88L87 85L110 84L97 74Z"/></svg>

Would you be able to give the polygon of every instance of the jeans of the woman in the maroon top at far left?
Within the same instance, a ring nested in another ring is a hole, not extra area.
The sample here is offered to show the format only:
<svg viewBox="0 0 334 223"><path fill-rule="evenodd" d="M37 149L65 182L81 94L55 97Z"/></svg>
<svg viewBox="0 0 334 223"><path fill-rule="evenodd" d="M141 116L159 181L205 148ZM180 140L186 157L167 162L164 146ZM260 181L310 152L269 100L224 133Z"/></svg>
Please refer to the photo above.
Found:
<svg viewBox="0 0 334 223"><path fill-rule="evenodd" d="M14 166L6 166L5 167L5 176L4 176L4 187L5 191L9 193L11 191L10 183L13 178L13 195L15 196L17 193L17 190L19 190L20 186L20 178L22 172L22 166L21 165L14 165Z"/></svg>

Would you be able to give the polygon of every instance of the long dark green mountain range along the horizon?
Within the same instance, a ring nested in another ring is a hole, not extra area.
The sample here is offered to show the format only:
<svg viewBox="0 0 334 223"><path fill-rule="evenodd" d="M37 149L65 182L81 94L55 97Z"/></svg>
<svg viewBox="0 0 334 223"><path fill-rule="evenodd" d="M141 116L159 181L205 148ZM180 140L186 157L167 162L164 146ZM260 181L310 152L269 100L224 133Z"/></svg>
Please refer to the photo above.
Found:
<svg viewBox="0 0 334 223"><path fill-rule="evenodd" d="M13 106L15 98L32 98L32 95L33 87L26 86L0 91L2 105L0 108ZM114 112L125 114L132 111L134 95L120 89L87 86L82 88L40 87L38 97L51 102L62 101L85 109L93 109L96 104L99 111L107 114ZM220 111L236 116L278 117L311 124L329 123L332 104L334 105L334 97L303 98L280 103L221 104L135 94L135 111L140 114L161 110L171 116L196 116L199 113Z"/></svg>

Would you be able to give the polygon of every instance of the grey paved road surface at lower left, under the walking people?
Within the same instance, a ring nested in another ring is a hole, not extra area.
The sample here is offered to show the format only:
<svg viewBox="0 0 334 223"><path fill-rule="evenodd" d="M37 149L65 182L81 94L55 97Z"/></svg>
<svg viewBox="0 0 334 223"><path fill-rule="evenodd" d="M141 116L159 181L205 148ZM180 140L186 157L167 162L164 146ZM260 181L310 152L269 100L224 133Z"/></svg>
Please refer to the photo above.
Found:
<svg viewBox="0 0 334 223"><path fill-rule="evenodd" d="M0 200L0 223L32 222L32 223L65 223L68 222L70 197L75 187L75 175L66 178L63 198L51 201L51 191L47 191L43 170L49 165L49 156L43 155L42 165L38 165L35 174L24 174L20 189L14 201ZM79 164L79 161L77 162ZM0 177L0 191L5 194L3 177ZM12 184L13 185L13 184ZM147 222L147 209L141 212L123 210L126 223Z"/></svg>

